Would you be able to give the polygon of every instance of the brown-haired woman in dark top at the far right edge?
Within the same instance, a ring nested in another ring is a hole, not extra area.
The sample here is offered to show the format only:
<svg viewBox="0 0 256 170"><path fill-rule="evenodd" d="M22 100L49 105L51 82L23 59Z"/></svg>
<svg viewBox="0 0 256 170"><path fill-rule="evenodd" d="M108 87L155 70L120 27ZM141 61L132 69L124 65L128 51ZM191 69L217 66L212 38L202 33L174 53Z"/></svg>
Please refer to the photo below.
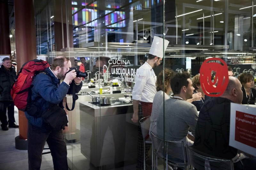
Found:
<svg viewBox="0 0 256 170"><path fill-rule="evenodd" d="M250 73L243 73L238 77L238 80L242 84L243 100L242 104L254 104L256 98L256 90L253 89L254 78Z"/></svg>

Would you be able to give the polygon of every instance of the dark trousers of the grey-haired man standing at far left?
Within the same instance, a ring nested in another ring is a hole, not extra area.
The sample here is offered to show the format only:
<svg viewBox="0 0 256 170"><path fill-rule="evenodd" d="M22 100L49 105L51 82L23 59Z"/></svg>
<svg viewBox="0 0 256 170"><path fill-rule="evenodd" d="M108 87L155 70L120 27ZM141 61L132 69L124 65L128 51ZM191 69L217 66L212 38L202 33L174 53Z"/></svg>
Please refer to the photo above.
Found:
<svg viewBox="0 0 256 170"><path fill-rule="evenodd" d="M6 117L6 110L8 110L8 122ZM12 101L0 101L0 121L1 126L7 126L9 124L14 124L14 104Z"/></svg>

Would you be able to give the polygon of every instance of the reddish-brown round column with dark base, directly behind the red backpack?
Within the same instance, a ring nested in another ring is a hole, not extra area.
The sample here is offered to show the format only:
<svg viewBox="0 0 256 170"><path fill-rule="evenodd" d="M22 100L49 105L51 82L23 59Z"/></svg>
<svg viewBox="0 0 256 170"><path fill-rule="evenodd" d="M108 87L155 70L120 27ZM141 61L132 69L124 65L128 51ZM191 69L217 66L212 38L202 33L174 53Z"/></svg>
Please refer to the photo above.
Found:
<svg viewBox="0 0 256 170"><path fill-rule="evenodd" d="M36 59L36 28L33 0L14 0L15 36L17 70L22 65ZM8 24L9 25L9 24ZM15 138L15 147L27 150L28 121L23 111L19 110L20 135Z"/></svg>

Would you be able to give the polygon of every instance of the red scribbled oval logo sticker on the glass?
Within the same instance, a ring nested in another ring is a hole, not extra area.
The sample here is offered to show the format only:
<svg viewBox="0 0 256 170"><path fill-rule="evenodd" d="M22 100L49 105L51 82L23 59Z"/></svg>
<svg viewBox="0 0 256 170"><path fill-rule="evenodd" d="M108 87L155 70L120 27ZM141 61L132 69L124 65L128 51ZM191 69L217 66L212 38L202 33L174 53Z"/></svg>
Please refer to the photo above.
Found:
<svg viewBox="0 0 256 170"><path fill-rule="evenodd" d="M220 58L210 58L200 68L201 87L207 96L221 96L228 86L228 66Z"/></svg>

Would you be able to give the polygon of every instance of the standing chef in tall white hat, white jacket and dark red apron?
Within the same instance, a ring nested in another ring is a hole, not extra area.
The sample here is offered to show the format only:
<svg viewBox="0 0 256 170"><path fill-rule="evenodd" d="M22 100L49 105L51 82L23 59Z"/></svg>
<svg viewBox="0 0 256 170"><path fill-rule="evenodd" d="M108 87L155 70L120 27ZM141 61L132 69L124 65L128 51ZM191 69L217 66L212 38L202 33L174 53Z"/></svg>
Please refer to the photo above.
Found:
<svg viewBox="0 0 256 170"><path fill-rule="evenodd" d="M148 60L136 71L135 84L132 90L133 123L137 123L141 118L151 115L153 98L156 94L156 75L153 68L159 66L162 62L164 51L168 44L169 41L155 36L149 50ZM150 145L145 144L146 169L148 168L149 148ZM137 170L144 169L144 148L140 126L138 126L138 156L136 168Z"/></svg>

